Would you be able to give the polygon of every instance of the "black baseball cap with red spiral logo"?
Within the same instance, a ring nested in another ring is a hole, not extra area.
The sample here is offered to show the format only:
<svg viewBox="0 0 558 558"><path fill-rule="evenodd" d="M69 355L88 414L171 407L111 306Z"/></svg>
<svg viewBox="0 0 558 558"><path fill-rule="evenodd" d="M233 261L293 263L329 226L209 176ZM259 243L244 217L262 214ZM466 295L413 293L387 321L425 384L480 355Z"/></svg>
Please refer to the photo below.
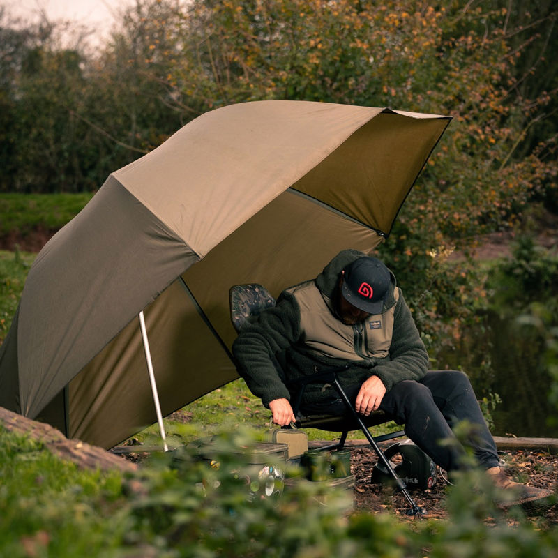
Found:
<svg viewBox="0 0 558 558"><path fill-rule="evenodd" d="M381 314L389 296L389 269L372 256L359 257L343 270L341 294L359 310Z"/></svg>

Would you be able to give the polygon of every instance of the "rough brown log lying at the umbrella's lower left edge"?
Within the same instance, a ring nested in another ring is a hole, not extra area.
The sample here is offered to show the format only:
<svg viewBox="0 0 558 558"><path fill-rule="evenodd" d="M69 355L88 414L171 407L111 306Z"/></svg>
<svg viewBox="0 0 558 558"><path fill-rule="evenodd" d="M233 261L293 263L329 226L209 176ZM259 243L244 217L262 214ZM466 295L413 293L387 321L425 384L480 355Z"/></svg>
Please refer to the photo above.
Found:
<svg viewBox="0 0 558 558"><path fill-rule="evenodd" d="M54 455L74 462L81 469L100 469L109 471L120 469L123 472L137 471L137 465L126 459L91 446L78 439L68 439L51 425L32 421L30 418L0 407L0 425L10 432L24 434L36 439Z"/></svg>

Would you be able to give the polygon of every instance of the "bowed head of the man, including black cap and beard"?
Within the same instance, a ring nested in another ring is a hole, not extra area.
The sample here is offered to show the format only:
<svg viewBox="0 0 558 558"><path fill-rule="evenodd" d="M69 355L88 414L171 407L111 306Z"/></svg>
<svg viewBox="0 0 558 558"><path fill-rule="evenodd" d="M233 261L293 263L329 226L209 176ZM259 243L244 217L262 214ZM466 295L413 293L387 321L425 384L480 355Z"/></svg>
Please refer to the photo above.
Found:
<svg viewBox="0 0 558 558"><path fill-rule="evenodd" d="M375 257L361 257L347 265L339 281L338 313L342 322L352 325L370 314L380 314L390 282L389 269Z"/></svg>

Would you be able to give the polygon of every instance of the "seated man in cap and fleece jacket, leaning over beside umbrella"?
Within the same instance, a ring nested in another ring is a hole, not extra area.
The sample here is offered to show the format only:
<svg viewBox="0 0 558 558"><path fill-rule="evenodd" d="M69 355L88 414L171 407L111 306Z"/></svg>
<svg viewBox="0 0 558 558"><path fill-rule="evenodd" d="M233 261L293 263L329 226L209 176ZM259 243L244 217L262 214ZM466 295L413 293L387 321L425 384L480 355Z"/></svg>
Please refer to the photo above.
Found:
<svg viewBox="0 0 558 558"><path fill-rule="evenodd" d="M278 425L295 421L288 389L293 380L347 364L339 380L356 412L368 416L382 409L405 424L407 436L446 471L462 467L465 450L452 428L468 421L474 428L468 443L497 485L517 489L523 500L551 494L511 482L500 468L469 379L455 370L428 371L428 354L395 276L375 257L340 252L315 280L282 292L274 308L243 329L233 352L248 388ZM346 409L322 382L308 385L301 412ZM444 439L454 443L439 444Z"/></svg>

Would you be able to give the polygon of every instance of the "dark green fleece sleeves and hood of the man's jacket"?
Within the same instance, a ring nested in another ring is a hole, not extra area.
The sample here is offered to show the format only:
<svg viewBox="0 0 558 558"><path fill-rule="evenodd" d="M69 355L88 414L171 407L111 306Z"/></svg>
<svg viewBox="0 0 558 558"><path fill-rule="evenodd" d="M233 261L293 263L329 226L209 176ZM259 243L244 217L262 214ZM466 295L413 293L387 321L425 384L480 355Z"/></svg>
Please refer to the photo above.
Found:
<svg viewBox="0 0 558 558"><path fill-rule="evenodd" d="M343 250L326 265L314 281L324 299L335 301L342 269L363 256L365 254L357 250ZM317 354L304 344L301 340L299 304L288 292L289 289L283 291L276 306L265 310L255 322L248 324L232 347L239 373L250 391L269 407L269 402L275 399L291 399L287 386L293 390L292 383L296 379L341 364L349 365L340 375L340 383L345 387L362 384L375 375L389 390L393 384L404 379L423 377L428 370L428 354L400 289L398 300L395 300L395 289L398 287L391 273L391 291L382 310L384 313L395 305L389 355L350 361ZM326 300L324 308L327 308ZM319 401L328 391L322 384L310 384L304 401Z"/></svg>

